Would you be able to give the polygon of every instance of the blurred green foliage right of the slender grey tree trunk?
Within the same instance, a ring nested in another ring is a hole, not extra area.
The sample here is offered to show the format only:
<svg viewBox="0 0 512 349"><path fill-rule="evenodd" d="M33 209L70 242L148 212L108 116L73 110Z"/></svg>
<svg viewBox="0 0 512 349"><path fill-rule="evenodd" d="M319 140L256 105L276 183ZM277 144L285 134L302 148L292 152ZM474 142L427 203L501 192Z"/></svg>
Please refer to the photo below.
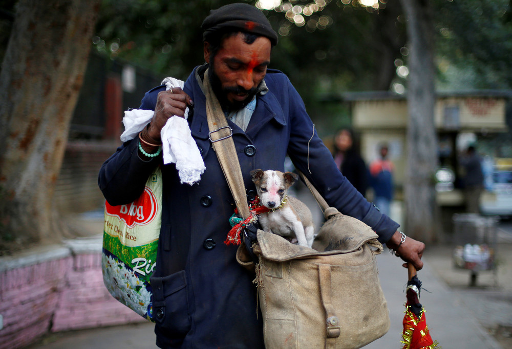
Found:
<svg viewBox="0 0 512 349"><path fill-rule="evenodd" d="M511 88L511 2L436 0L434 10L441 81Z"/></svg>

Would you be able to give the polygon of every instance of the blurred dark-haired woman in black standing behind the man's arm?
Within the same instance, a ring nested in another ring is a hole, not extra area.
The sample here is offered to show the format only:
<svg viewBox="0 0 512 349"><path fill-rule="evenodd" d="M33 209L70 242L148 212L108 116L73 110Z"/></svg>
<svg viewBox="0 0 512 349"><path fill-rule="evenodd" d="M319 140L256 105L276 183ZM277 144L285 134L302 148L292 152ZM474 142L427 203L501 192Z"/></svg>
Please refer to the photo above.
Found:
<svg viewBox="0 0 512 349"><path fill-rule="evenodd" d="M334 162L338 169L362 196L368 188L368 170L365 161L359 155L354 132L342 128L334 135Z"/></svg>

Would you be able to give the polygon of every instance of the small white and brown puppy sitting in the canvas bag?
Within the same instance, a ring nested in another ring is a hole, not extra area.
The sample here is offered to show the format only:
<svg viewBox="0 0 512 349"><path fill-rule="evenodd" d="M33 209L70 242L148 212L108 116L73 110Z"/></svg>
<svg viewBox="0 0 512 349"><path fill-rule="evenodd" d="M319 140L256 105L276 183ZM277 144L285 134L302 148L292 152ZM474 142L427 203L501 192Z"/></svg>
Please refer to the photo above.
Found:
<svg viewBox="0 0 512 349"><path fill-rule="evenodd" d="M250 174L256 185L260 203L272 210L259 218L263 230L287 238L292 243L311 247L314 223L309 208L302 201L288 196L286 204L277 209L298 176L291 172L260 169L253 170Z"/></svg>

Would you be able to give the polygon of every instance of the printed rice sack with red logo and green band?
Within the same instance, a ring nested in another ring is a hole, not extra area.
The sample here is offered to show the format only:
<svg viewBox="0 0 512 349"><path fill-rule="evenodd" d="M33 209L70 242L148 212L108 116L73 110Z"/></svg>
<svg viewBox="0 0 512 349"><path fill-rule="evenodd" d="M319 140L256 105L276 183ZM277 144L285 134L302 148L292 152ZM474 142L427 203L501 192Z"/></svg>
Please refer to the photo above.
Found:
<svg viewBox="0 0 512 349"><path fill-rule="evenodd" d="M110 294L153 321L150 277L156 266L162 222L162 174L158 168L142 195L127 205L105 202L103 283Z"/></svg>

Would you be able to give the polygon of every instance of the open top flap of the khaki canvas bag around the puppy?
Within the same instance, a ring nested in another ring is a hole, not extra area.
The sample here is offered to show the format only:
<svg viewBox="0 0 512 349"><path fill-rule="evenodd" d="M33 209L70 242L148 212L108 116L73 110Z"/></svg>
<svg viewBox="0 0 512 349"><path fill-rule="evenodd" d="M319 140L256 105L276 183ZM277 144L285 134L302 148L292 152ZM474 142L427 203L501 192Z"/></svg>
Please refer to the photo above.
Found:
<svg viewBox="0 0 512 349"><path fill-rule="evenodd" d="M313 248L295 245L285 238L267 231L258 230L258 245L254 252L271 261L284 262L317 255L349 253L369 242L376 254L382 251L378 235L365 223L342 215L334 207L325 211L327 221L313 241Z"/></svg>

